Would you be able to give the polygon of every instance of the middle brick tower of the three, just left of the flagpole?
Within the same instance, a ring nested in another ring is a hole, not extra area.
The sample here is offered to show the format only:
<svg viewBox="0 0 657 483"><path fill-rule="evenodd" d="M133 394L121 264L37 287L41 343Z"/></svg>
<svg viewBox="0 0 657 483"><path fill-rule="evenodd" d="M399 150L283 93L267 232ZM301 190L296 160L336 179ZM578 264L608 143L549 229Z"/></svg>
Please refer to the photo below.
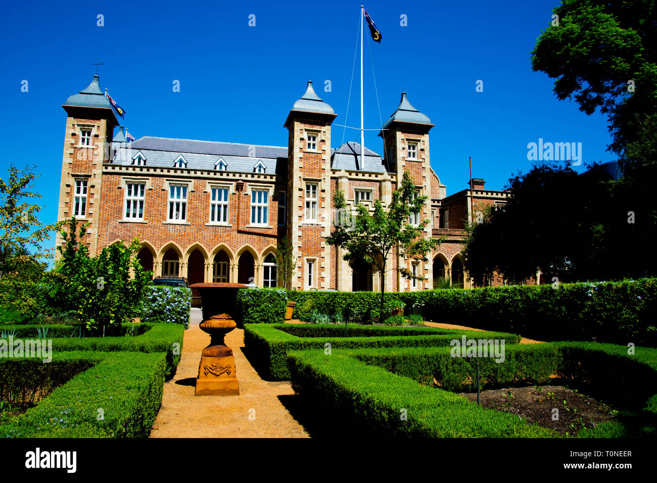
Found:
<svg viewBox="0 0 657 483"><path fill-rule="evenodd" d="M330 250L324 240L330 235L330 126L335 118L333 108L308 81L284 124L288 128L287 234L297 260L292 287L302 290L328 288L330 283Z"/></svg>

